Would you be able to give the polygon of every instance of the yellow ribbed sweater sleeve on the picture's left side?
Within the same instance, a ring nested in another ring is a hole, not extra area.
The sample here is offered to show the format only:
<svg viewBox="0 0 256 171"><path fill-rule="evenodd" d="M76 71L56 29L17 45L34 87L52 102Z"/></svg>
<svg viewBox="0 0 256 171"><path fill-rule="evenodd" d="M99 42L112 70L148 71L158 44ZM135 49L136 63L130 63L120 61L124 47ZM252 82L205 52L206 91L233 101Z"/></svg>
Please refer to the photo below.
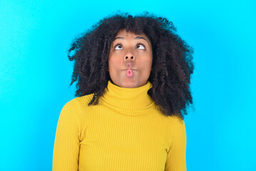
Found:
<svg viewBox="0 0 256 171"><path fill-rule="evenodd" d="M78 170L83 114L76 98L62 108L53 147L53 171Z"/></svg>

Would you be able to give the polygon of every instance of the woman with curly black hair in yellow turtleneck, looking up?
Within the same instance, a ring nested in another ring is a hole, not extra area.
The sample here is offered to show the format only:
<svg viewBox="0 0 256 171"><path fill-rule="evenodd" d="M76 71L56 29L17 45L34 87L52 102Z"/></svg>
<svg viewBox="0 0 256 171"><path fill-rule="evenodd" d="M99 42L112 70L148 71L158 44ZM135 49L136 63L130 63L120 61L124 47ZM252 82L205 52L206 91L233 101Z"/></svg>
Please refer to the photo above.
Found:
<svg viewBox="0 0 256 171"><path fill-rule="evenodd" d="M175 31L164 18L118 14L73 42L78 97L61 110L54 171L186 170L193 49Z"/></svg>

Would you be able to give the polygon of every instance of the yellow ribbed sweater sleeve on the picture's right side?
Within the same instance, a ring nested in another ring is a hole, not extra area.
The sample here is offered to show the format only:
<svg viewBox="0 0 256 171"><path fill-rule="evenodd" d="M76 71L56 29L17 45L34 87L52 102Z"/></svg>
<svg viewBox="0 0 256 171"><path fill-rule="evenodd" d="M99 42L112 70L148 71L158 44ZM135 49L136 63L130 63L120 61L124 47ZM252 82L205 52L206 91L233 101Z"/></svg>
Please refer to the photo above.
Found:
<svg viewBox="0 0 256 171"><path fill-rule="evenodd" d="M184 120L172 116L170 120L170 150L165 162L165 171L185 171L186 131Z"/></svg>

